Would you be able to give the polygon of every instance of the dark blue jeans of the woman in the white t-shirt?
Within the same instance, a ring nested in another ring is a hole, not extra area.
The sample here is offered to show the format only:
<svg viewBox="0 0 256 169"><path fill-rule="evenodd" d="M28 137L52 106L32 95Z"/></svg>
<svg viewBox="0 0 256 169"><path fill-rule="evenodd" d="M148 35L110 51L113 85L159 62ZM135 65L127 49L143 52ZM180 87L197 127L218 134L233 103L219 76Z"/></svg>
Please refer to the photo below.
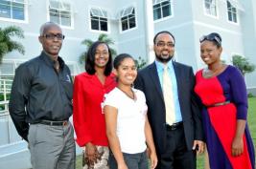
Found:
<svg viewBox="0 0 256 169"><path fill-rule="evenodd" d="M147 153L128 154L123 153L128 169L148 169L149 162ZM109 169L117 169L117 162L112 152L109 152Z"/></svg>

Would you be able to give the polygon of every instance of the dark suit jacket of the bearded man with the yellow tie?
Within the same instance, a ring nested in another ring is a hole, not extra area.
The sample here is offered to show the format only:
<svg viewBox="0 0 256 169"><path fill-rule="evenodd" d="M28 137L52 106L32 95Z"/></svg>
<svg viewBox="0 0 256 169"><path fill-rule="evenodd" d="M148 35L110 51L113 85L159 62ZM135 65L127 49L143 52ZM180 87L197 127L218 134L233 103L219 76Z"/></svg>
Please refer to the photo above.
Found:
<svg viewBox="0 0 256 169"><path fill-rule="evenodd" d="M194 94L195 76L192 67L173 63L186 145L192 149L194 139L203 139L201 115ZM134 85L146 95L156 152L162 154L166 146L165 103L154 62L138 73Z"/></svg>

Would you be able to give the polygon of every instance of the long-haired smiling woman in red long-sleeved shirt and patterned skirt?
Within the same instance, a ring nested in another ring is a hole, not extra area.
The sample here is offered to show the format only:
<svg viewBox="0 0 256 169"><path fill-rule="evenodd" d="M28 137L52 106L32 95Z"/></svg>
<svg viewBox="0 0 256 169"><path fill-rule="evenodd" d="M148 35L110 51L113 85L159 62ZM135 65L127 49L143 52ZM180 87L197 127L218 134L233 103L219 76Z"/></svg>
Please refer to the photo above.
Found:
<svg viewBox="0 0 256 169"><path fill-rule="evenodd" d="M108 142L105 135L104 95L115 86L112 57L104 42L95 42L88 49L86 73L74 82L74 127L77 143L84 147L83 169L108 168Z"/></svg>

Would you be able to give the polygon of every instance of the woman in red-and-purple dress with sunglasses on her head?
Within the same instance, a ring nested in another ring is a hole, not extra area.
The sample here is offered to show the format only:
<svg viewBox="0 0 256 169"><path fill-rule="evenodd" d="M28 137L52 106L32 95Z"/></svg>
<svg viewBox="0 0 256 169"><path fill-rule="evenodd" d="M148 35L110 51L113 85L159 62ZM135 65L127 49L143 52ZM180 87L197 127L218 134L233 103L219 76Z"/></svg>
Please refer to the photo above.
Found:
<svg viewBox="0 0 256 169"><path fill-rule="evenodd" d="M203 104L203 129L211 169L255 169L249 134L244 76L221 62L221 36L200 39L200 56L207 65L196 74L195 92Z"/></svg>

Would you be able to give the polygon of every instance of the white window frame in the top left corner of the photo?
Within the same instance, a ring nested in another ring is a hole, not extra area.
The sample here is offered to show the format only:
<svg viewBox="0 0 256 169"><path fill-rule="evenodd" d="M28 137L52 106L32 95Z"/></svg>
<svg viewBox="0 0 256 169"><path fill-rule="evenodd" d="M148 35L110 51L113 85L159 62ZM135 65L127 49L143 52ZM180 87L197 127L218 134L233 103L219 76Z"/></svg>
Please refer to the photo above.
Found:
<svg viewBox="0 0 256 169"><path fill-rule="evenodd" d="M20 0L6 0L11 2L11 18L7 18L7 17L1 17L0 16L0 20L2 21L9 21L9 22L17 22L17 23L28 23L28 0L23 0L23 2L20 2ZM21 19L13 19L12 18L12 3L19 3L24 5L24 20ZM1 12L1 11L0 11Z"/></svg>

